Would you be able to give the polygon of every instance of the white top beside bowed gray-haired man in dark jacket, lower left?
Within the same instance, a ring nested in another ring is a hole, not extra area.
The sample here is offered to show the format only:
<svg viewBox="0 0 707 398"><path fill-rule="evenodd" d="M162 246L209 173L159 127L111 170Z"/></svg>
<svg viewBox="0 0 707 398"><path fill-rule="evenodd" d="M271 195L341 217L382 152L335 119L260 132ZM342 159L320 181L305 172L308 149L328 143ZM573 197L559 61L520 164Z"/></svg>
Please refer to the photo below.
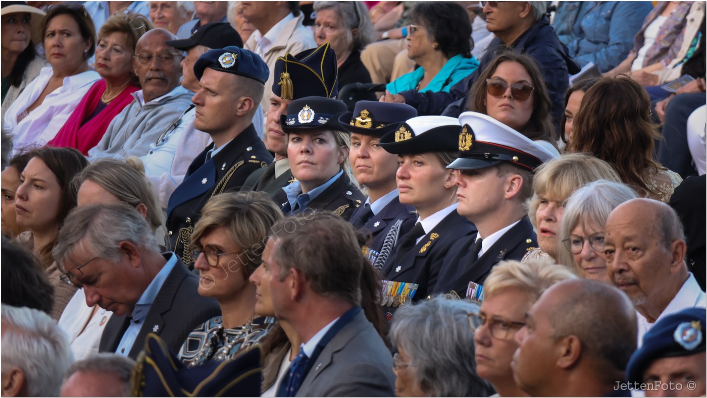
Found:
<svg viewBox="0 0 707 398"><path fill-rule="evenodd" d="M98 304L96 304L98 306ZM112 312L98 308L93 316L93 307L86 305L83 289L78 289L59 318L59 328L66 333L71 342L71 351L76 361L98 354L98 343L105 330ZM84 328L84 326L86 326ZM83 332L81 332L83 330Z"/></svg>

